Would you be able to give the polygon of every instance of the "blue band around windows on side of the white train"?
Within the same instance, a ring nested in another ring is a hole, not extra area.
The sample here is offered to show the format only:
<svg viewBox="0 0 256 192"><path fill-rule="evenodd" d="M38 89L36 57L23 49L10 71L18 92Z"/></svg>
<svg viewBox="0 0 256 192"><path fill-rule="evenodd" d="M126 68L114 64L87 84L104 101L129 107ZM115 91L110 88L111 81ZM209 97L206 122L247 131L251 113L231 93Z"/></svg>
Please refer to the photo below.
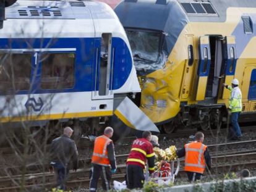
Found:
<svg viewBox="0 0 256 192"><path fill-rule="evenodd" d="M96 48L100 50L101 38L13 38L0 39L0 49L61 49L76 48L75 51L75 85L74 88L62 90L42 90L40 88L41 63L38 66L38 72L35 83L31 91L19 91L15 94L33 94L39 93L69 93L79 91L93 91L95 85L96 69ZM121 38L113 38L112 48L114 48L114 66L113 66L113 90L121 88L129 77L132 69L132 57L127 44ZM51 51L65 52L65 51ZM71 51L74 52L74 51ZM35 59L32 65L32 77L36 72ZM100 64L100 62L99 62ZM30 81L32 81L32 77ZM97 87L98 90L98 87Z"/></svg>

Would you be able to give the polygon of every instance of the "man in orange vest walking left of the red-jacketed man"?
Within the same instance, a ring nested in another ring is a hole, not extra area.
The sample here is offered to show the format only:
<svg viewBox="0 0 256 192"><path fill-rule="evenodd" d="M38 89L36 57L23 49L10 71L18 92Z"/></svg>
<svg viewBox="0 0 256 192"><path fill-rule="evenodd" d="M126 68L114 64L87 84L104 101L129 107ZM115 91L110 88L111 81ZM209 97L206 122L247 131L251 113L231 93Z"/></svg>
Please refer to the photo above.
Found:
<svg viewBox="0 0 256 192"><path fill-rule="evenodd" d="M92 176L90 178L89 191L96 191L98 179L101 177L104 190L110 190L111 173L116 172L116 156L114 154L114 143L110 139L114 130L106 127L104 135L95 139L92 155ZM110 169L111 167L111 169Z"/></svg>

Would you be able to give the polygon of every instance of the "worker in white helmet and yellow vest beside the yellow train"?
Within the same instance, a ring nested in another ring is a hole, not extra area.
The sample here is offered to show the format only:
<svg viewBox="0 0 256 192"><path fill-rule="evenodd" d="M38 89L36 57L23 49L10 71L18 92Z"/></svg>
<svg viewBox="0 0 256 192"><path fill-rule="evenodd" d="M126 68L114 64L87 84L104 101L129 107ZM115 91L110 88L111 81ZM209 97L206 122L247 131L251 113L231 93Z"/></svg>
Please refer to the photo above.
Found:
<svg viewBox="0 0 256 192"><path fill-rule="evenodd" d="M242 93L238 85L239 85L239 81L236 78L232 80L231 86L223 84L223 86L225 86L229 91L231 91L229 96L228 110L231 111L233 130L236 133L236 136L231 138L231 140L241 140L242 138L241 129L237 122L238 116L242 111Z"/></svg>

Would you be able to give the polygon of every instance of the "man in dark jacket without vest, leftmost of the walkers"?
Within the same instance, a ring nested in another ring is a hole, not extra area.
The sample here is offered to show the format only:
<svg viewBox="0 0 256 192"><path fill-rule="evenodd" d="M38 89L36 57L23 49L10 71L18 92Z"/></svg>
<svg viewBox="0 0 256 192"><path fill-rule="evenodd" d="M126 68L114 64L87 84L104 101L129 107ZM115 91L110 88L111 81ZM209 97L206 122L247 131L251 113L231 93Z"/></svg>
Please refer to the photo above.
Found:
<svg viewBox="0 0 256 192"><path fill-rule="evenodd" d="M69 174L69 163L73 162L74 171L78 167L78 152L75 141L70 137L73 130L70 127L64 128L62 136L54 139L51 143L50 153L51 162L50 165L54 167L57 186L60 190L66 190L66 180Z"/></svg>

